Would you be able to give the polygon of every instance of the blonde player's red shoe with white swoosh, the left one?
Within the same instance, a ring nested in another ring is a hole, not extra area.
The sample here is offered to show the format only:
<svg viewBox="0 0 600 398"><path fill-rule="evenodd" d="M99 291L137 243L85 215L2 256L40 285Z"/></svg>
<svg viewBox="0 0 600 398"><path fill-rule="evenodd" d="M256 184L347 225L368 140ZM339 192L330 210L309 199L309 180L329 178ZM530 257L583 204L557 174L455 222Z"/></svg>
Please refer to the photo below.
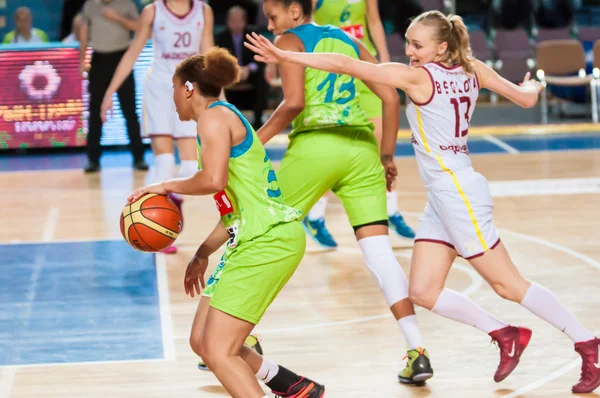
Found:
<svg viewBox="0 0 600 398"><path fill-rule="evenodd" d="M525 351L529 340L531 340L531 330L527 328L506 326L502 329L494 330L490 333L492 341L498 343L500 348L500 365L494 374L496 383L506 379L509 374L519 364L519 359Z"/></svg>

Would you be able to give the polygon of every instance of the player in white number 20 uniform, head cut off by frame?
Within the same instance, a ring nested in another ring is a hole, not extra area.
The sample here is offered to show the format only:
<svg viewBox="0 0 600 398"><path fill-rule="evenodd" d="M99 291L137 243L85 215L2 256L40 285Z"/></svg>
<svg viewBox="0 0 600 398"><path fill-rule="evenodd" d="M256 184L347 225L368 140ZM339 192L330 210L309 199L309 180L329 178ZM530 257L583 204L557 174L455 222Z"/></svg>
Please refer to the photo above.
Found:
<svg viewBox="0 0 600 398"><path fill-rule="evenodd" d="M198 170L196 123L182 122L175 111L171 79L177 65L194 54L214 46L212 9L200 0L155 0L144 7L131 46L121 59L104 96L101 117L112 109L112 97L133 70L133 66L152 37L154 58L144 84L142 128L149 136L154 167L147 183L175 176L189 177ZM181 164L176 172L174 140ZM170 195L181 208L182 198ZM165 253L175 253L171 246Z"/></svg>

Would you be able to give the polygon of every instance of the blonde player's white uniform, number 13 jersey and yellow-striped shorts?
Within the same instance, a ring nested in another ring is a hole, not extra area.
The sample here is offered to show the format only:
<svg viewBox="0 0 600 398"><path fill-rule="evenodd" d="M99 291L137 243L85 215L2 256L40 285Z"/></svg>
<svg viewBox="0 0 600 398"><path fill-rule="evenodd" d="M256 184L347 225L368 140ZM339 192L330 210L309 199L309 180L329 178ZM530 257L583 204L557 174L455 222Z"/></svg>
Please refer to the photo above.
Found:
<svg viewBox="0 0 600 398"><path fill-rule="evenodd" d="M473 170L467 138L479 81L461 66L423 66L433 84L429 101L409 99L406 109L427 205L415 241L444 244L466 258L499 242L492 222L492 195L485 177Z"/></svg>

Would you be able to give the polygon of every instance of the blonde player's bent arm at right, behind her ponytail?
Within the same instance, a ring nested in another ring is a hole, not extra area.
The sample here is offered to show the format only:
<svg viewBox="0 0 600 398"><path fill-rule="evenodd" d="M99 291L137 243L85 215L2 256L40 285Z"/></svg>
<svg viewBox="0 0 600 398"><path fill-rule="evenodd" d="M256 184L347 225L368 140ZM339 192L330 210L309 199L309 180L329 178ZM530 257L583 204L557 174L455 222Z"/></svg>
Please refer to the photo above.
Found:
<svg viewBox="0 0 600 398"><path fill-rule="evenodd" d="M539 92L544 89L540 82L529 79L529 72L525 75L523 83L517 85L509 82L479 60L475 61L474 66L481 88L498 93L523 108L535 106Z"/></svg>

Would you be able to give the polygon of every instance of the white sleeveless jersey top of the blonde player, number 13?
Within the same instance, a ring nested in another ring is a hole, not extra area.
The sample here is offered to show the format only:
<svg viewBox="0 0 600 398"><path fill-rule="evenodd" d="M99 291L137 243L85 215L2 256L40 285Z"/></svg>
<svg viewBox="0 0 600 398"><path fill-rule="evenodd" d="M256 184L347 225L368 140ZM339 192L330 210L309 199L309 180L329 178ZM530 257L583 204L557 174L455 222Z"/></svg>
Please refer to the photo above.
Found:
<svg viewBox="0 0 600 398"><path fill-rule="evenodd" d="M422 104L409 99L406 115L419 172L425 188L430 189L435 180L449 172L472 170L467 138L479 81L461 66L429 63L422 68L429 73L433 94Z"/></svg>

